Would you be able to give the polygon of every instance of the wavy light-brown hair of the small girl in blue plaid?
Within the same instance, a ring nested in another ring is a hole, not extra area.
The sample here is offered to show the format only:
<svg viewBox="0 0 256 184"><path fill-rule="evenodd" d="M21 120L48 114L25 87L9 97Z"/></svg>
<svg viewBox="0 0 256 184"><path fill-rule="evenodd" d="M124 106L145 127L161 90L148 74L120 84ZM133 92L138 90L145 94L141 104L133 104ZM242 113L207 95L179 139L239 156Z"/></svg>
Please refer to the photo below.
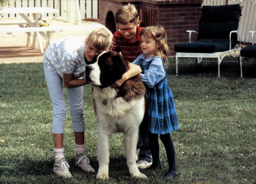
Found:
<svg viewBox="0 0 256 184"><path fill-rule="evenodd" d="M168 67L168 58L167 52L169 51L169 47L167 45L167 36L165 32L165 28L161 25L159 26L148 26L141 30L140 34L145 35L147 38L152 38L155 40L157 44L156 51L154 55L158 55L163 58L165 67Z"/></svg>

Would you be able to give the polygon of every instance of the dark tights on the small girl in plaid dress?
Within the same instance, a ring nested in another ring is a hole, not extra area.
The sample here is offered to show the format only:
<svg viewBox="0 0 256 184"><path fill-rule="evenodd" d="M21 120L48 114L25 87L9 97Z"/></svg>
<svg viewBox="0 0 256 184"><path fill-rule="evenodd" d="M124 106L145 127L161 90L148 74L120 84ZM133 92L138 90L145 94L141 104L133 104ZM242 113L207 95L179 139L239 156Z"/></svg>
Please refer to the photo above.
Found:
<svg viewBox="0 0 256 184"><path fill-rule="evenodd" d="M159 143L158 143L158 134L148 132L149 145L152 154L152 166L159 166L161 164L159 158ZM174 171L177 172L175 164L175 150L174 145L169 133L160 134L161 142L165 146L167 160L168 160L168 172Z"/></svg>

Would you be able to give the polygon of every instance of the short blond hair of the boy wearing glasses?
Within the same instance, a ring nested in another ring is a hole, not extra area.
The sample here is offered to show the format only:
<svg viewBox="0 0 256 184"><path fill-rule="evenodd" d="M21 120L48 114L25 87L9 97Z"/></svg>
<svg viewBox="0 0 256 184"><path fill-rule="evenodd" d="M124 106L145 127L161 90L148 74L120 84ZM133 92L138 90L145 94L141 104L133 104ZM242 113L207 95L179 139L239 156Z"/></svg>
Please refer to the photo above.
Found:
<svg viewBox="0 0 256 184"><path fill-rule="evenodd" d="M137 24L139 21L139 14L134 5L128 3L119 8L115 14L116 24L126 25L128 23Z"/></svg>

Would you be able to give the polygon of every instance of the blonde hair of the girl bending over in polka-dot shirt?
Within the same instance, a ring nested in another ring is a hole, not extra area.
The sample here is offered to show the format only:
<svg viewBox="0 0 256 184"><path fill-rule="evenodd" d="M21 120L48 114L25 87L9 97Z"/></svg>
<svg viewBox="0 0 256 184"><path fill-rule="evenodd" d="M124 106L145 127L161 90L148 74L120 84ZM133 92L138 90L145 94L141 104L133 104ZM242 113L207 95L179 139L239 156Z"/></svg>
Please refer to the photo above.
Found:
<svg viewBox="0 0 256 184"><path fill-rule="evenodd" d="M110 50L112 35L106 29L98 27L89 34L85 44L88 44L90 40L93 41L93 46L98 51Z"/></svg>

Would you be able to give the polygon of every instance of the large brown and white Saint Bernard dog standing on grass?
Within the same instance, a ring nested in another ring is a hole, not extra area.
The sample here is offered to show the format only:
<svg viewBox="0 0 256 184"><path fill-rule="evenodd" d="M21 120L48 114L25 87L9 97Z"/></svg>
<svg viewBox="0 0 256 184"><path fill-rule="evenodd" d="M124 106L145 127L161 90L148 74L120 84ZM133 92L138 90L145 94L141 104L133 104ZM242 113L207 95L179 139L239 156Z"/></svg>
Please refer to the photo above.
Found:
<svg viewBox="0 0 256 184"><path fill-rule="evenodd" d="M98 127L97 178L108 179L111 134L124 133L127 165L132 177L146 178L136 166L139 126L145 113L146 88L140 75L126 80L120 87L110 85L128 70L128 61L113 51L104 51L86 66L85 78L92 86Z"/></svg>

